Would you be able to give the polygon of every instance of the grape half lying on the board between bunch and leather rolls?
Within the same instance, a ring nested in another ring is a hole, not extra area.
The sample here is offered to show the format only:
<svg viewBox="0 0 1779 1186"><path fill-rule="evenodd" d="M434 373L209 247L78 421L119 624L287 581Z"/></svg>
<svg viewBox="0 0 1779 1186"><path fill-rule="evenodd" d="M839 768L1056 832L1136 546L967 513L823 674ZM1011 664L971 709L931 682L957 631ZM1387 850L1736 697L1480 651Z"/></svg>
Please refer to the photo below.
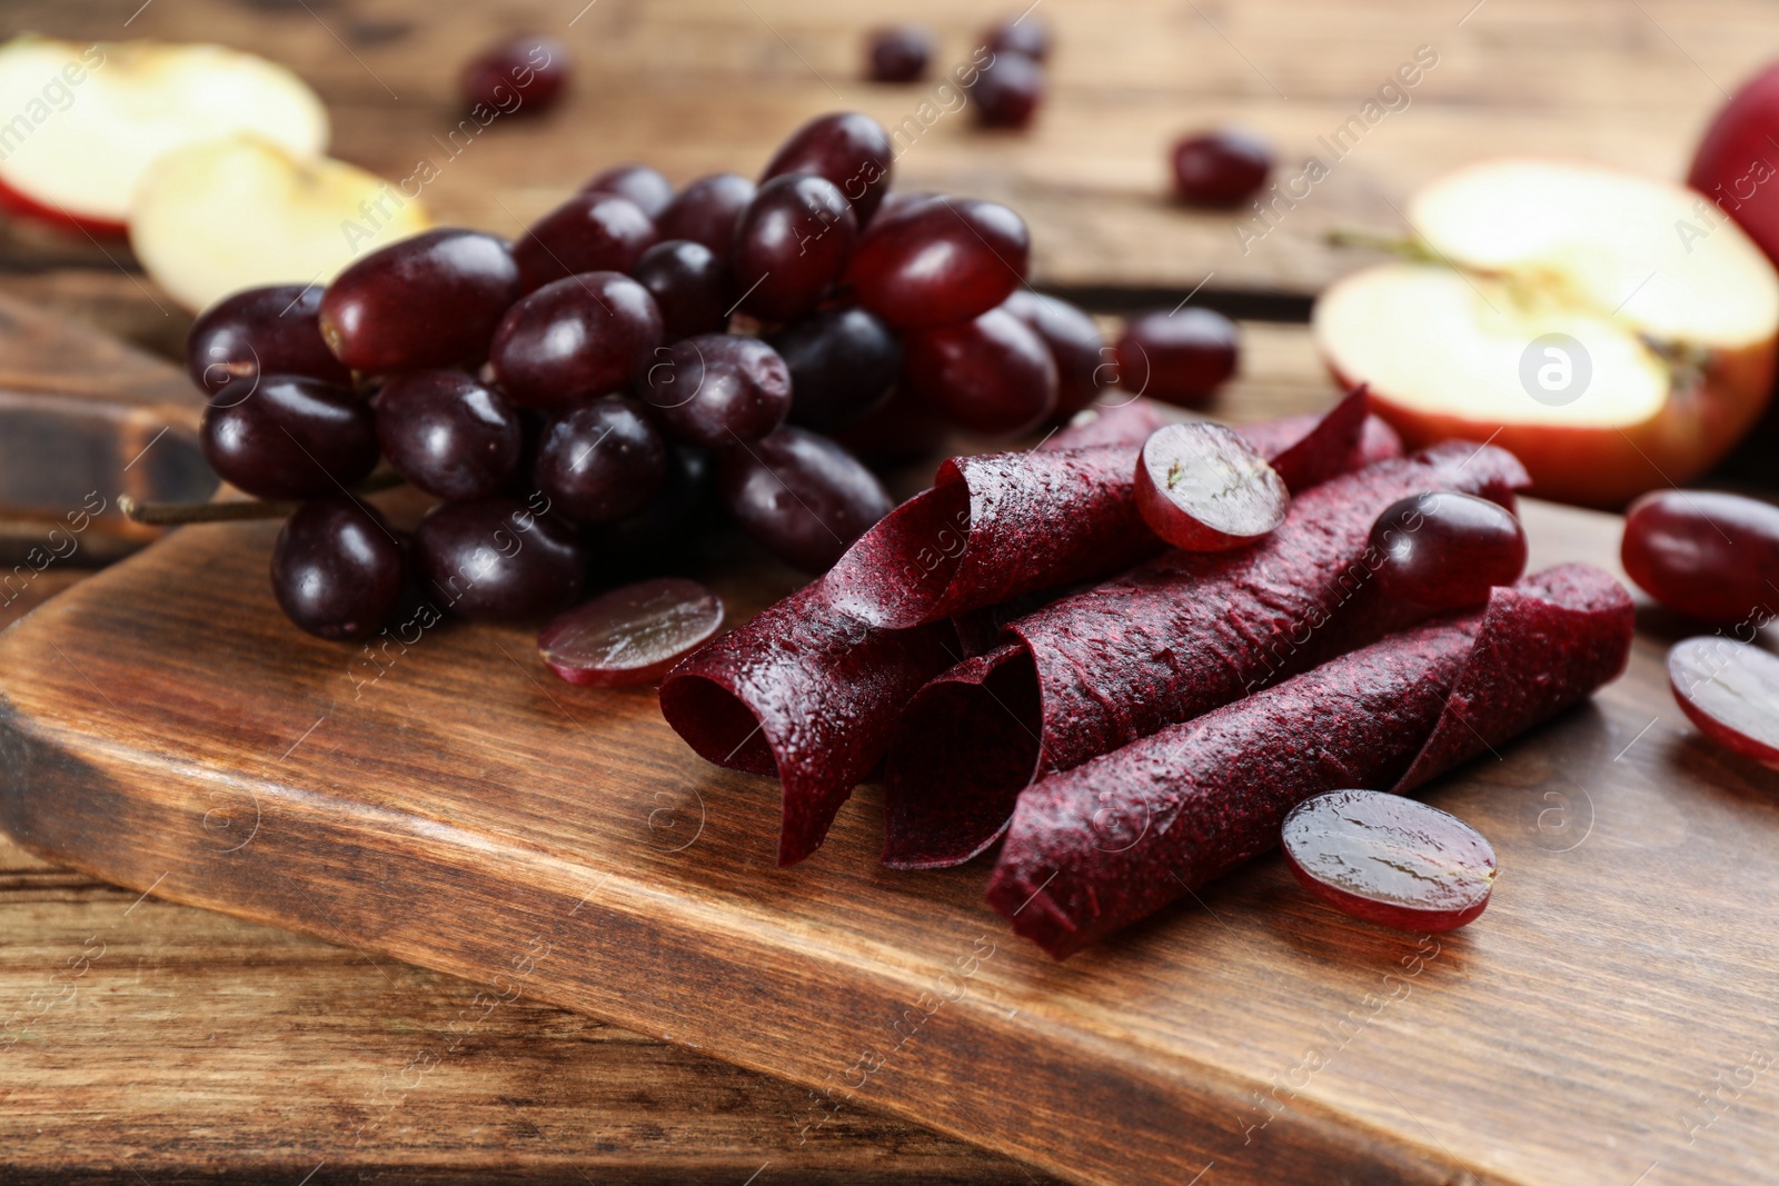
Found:
<svg viewBox="0 0 1779 1186"><path fill-rule="evenodd" d="M576 685L655 683L722 628L722 597L662 576L562 613L537 635L544 665Z"/></svg>

